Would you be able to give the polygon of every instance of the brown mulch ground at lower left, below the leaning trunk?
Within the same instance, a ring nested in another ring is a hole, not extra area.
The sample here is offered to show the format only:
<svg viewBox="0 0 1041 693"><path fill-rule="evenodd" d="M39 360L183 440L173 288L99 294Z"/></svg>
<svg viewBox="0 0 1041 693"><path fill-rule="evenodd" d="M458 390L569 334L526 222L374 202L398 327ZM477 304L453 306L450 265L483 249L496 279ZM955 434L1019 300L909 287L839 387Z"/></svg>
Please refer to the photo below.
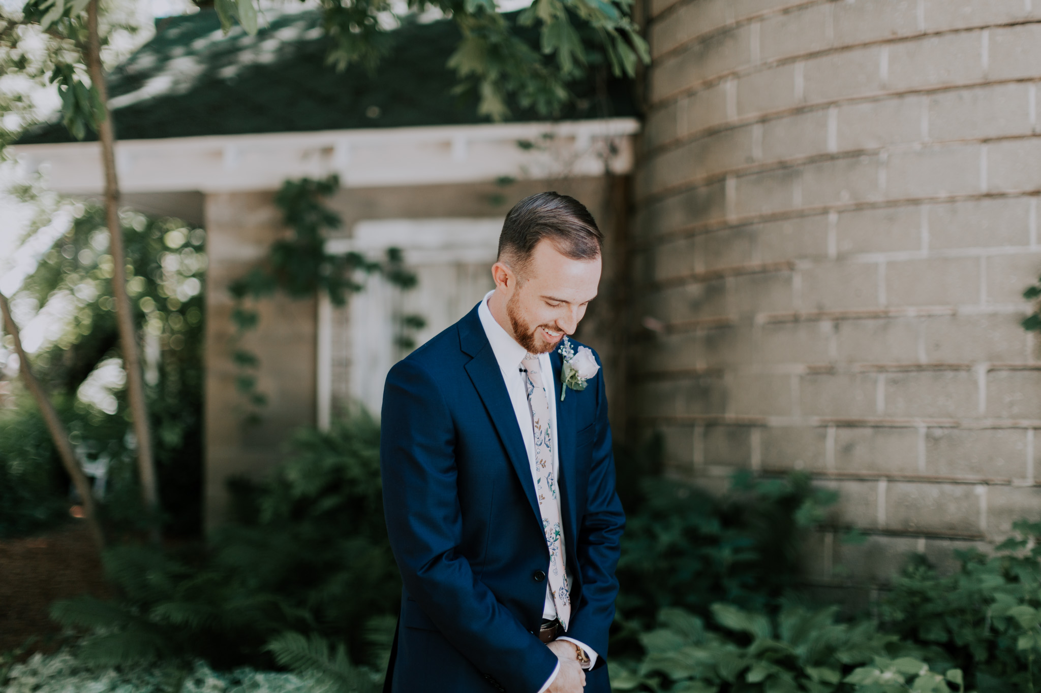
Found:
<svg viewBox="0 0 1041 693"><path fill-rule="evenodd" d="M0 539L0 652L33 637L33 649L51 649L61 633L50 619L51 604L79 594L108 594L98 550L82 522Z"/></svg>

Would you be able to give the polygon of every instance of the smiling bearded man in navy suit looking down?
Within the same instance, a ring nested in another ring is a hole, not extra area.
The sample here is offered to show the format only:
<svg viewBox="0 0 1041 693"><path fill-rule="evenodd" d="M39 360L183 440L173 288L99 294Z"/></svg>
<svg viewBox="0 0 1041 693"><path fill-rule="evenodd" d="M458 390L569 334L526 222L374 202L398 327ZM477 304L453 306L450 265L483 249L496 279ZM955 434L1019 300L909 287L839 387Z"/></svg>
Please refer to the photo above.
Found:
<svg viewBox="0 0 1041 693"><path fill-rule="evenodd" d="M625 514L600 362L569 340L603 236L555 192L510 210L496 288L398 363L380 464L404 589L387 693L609 693Z"/></svg>

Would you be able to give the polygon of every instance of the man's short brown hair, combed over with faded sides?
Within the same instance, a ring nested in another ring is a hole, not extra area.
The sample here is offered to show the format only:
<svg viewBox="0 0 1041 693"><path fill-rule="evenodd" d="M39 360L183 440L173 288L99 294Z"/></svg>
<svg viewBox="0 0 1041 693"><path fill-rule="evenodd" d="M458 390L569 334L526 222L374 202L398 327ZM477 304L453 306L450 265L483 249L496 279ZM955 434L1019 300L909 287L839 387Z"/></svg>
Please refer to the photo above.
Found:
<svg viewBox="0 0 1041 693"><path fill-rule="evenodd" d="M522 274L543 238L572 260L600 256L604 235L585 205L569 195L539 192L509 211L499 235L499 260Z"/></svg>

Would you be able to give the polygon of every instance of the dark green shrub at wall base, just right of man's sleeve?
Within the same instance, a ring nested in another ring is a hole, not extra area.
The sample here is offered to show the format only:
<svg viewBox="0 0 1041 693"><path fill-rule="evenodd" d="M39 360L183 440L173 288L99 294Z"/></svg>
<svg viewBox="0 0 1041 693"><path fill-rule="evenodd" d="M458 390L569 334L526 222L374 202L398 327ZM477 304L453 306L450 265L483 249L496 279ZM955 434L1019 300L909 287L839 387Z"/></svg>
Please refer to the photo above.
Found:
<svg viewBox="0 0 1041 693"><path fill-rule="evenodd" d="M805 474L741 474L722 497L661 477L644 479L641 489L626 508L617 607L646 625L664 607L703 616L715 602L776 607L798 584L804 531L836 499Z"/></svg>

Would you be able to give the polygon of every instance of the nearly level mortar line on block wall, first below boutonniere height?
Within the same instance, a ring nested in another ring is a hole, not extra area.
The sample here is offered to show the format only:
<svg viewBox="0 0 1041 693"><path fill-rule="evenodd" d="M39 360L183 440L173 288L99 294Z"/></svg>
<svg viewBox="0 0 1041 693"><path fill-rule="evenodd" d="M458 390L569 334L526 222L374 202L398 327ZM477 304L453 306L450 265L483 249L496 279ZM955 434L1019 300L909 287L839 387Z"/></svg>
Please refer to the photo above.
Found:
<svg viewBox="0 0 1041 693"><path fill-rule="evenodd" d="M1022 430L1041 428L1041 420L1021 419L854 419L829 417L746 416L736 414L637 415L637 421L659 425L761 426L764 428L956 428L961 430Z"/></svg>

